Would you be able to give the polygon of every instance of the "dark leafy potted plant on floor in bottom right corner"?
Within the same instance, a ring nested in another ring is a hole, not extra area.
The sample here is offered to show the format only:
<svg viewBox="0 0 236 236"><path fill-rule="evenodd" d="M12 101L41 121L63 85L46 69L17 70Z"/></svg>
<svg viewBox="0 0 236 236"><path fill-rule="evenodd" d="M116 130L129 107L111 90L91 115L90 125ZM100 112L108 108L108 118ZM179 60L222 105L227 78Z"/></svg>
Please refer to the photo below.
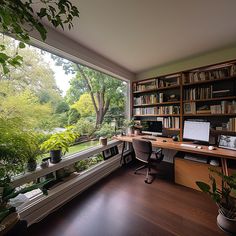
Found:
<svg viewBox="0 0 236 236"><path fill-rule="evenodd" d="M209 168L211 186L207 183L197 181L197 186L211 196L212 200L219 207L217 225L220 229L232 235L236 235L236 174L226 176L215 168ZM217 174L222 179L222 186L219 188L212 173Z"/></svg>

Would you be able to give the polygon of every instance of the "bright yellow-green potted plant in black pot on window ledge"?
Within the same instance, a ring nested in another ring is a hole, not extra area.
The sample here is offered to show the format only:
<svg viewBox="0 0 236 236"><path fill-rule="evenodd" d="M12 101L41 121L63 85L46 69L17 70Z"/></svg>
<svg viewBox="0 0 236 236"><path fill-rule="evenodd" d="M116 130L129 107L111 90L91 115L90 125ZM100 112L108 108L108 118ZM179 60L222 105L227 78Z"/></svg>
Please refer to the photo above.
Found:
<svg viewBox="0 0 236 236"><path fill-rule="evenodd" d="M68 152L69 146L75 141L75 138L72 131L55 133L47 141L43 142L40 148L50 153L50 161L55 164L60 162L62 155Z"/></svg>

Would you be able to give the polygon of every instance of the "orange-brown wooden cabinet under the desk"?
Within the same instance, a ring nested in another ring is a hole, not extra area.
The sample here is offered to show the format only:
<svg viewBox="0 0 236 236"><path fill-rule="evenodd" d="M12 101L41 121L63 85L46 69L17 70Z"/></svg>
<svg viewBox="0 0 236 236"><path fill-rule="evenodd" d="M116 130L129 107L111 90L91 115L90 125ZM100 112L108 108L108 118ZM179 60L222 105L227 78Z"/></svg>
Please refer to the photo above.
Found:
<svg viewBox="0 0 236 236"><path fill-rule="evenodd" d="M199 190L196 185L196 181L203 181L210 183L209 180L209 167L212 165L200 163L196 161L186 160L183 158L176 157L175 161L175 183ZM221 167L219 171L221 171ZM216 178L217 185L221 185L221 178L214 175Z"/></svg>

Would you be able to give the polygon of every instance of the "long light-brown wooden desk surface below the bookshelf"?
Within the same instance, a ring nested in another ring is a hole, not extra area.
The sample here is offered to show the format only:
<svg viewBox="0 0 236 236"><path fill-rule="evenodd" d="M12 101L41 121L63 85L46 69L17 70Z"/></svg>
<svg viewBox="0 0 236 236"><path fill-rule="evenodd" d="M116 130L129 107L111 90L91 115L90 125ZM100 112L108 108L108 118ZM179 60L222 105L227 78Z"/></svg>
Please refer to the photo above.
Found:
<svg viewBox="0 0 236 236"><path fill-rule="evenodd" d="M135 139L142 139L142 135L133 135L133 136L116 136L114 137L117 140L124 141L124 142L132 142ZM209 150L208 146L206 145L199 145L202 149L192 148L192 147L183 147L181 143L186 144L193 144L192 142L175 142L171 138L164 138L164 137L154 137L156 140L149 140L152 143L153 147L159 148L166 148L176 151L188 152L188 153L197 153L200 155L207 155L207 156L214 156L214 157L221 157L221 158L228 158L228 159L235 159L236 160L236 151L227 150L223 148L216 148L215 150ZM147 140L147 139L142 139ZM165 140L166 142L163 142Z"/></svg>

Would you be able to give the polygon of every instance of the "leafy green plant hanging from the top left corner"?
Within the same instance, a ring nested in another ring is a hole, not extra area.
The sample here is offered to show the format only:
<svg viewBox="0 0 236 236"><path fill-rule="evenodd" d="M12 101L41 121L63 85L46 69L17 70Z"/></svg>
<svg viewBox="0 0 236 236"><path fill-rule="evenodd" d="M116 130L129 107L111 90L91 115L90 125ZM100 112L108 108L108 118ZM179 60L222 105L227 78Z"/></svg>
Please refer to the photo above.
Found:
<svg viewBox="0 0 236 236"><path fill-rule="evenodd" d="M38 6L41 6L38 8ZM19 40L18 48L24 48L30 41L29 33L33 30L39 32L43 41L46 40L47 30L42 24L46 19L54 28L73 27L73 19L79 17L79 10L69 0L0 0L0 32L12 35ZM23 58L6 52L0 44L0 65L3 73L10 72L10 66L20 66Z"/></svg>

